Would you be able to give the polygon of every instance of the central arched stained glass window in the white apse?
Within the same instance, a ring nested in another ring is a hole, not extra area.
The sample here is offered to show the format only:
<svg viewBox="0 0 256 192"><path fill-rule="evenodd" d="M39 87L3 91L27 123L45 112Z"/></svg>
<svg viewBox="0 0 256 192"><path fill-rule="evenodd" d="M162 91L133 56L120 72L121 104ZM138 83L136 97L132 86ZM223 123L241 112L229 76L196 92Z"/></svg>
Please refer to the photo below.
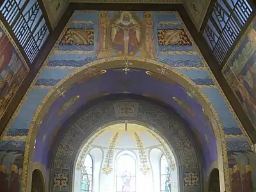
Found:
<svg viewBox="0 0 256 192"><path fill-rule="evenodd" d="M132 156L124 154L116 161L116 192L136 191L136 163Z"/></svg>

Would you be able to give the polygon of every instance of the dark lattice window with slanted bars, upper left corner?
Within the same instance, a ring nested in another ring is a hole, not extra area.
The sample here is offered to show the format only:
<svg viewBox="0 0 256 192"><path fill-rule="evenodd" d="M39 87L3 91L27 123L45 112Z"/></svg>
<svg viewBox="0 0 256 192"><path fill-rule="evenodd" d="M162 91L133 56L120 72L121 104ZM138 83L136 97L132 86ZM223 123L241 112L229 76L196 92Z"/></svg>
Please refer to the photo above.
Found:
<svg viewBox="0 0 256 192"><path fill-rule="evenodd" d="M0 11L32 62L49 35L38 1L5 0Z"/></svg>

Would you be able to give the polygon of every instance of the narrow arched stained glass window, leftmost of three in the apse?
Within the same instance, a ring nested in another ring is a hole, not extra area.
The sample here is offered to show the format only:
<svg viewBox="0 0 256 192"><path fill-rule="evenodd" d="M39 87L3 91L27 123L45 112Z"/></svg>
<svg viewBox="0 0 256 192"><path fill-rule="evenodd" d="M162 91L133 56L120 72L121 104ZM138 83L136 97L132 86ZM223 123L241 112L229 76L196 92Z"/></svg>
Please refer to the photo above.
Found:
<svg viewBox="0 0 256 192"><path fill-rule="evenodd" d="M81 192L92 192L93 164L92 156L87 154L82 167Z"/></svg>

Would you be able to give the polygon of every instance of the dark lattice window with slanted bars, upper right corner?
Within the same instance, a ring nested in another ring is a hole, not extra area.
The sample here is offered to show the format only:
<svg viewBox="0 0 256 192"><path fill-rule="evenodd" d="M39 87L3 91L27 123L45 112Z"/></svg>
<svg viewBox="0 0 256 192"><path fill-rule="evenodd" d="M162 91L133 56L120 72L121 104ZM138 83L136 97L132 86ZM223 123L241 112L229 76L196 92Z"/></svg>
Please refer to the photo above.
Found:
<svg viewBox="0 0 256 192"><path fill-rule="evenodd" d="M220 65L251 13L246 0L218 0L214 4L204 38Z"/></svg>

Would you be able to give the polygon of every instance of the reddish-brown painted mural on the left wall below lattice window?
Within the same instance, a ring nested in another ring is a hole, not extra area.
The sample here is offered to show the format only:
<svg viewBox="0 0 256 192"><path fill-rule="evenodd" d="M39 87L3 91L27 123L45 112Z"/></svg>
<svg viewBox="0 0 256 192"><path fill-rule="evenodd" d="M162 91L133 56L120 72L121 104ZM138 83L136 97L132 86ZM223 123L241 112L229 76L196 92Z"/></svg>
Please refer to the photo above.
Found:
<svg viewBox="0 0 256 192"><path fill-rule="evenodd" d="M0 118L28 71L26 61L0 21Z"/></svg>

